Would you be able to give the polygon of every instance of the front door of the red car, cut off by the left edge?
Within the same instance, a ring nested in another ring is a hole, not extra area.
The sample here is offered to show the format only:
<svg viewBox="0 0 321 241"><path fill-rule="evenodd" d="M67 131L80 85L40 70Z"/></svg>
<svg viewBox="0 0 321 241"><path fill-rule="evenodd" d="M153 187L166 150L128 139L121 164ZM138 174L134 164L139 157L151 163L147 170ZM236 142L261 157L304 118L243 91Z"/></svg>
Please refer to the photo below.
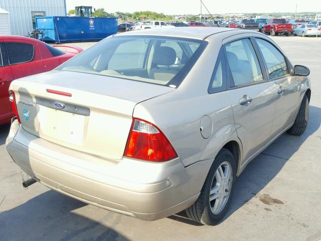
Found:
<svg viewBox="0 0 321 241"><path fill-rule="evenodd" d="M0 125L12 117L9 86L13 80L5 43L0 40Z"/></svg>

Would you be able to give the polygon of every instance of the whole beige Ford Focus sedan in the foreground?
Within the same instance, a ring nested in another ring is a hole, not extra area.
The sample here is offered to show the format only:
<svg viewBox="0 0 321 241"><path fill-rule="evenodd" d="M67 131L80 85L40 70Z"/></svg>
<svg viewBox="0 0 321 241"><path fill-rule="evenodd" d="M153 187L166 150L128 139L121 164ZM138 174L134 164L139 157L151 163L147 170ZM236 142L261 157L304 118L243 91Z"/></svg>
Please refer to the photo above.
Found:
<svg viewBox="0 0 321 241"><path fill-rule="evenodd" d="M7 150L32 179L156 220L215 225L236 177L284 132L301 135L308 68L249 30L173 28L107 38L12 82Z"/></svg>

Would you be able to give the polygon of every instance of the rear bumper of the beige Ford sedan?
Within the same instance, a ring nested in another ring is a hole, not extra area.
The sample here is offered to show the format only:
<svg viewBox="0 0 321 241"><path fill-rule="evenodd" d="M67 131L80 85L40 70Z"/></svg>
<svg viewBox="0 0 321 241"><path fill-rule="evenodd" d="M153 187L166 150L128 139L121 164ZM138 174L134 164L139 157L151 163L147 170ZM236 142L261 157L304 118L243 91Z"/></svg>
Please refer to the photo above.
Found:
<svg viewBox="0 0 321 241"><path fill-rule="evenodd" d="M108 210L156 220L191 206L213 160L187 168L166 163L106 160L75 152L24 131L13 123L7 139L13 160L40 183Z"/></svg>

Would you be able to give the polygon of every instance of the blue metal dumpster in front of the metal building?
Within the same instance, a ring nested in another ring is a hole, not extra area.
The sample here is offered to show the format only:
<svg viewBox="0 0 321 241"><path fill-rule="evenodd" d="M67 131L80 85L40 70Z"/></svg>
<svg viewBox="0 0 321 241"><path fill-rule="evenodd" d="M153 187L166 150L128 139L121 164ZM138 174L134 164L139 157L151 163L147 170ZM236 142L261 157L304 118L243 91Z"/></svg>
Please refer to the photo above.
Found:
<svg viewBox="0 0 321 241"><path fill-rule="evenodd" d="M116 18L36 17L36 30L44 41L56 43L101 40L117 33Z"/></svg>

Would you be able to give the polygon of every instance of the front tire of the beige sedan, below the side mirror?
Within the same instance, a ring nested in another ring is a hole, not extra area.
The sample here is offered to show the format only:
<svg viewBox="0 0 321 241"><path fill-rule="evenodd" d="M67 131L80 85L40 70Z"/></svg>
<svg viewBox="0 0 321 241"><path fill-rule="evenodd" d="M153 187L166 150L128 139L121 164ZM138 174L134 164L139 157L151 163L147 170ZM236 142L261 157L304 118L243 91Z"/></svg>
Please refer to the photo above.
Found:
<svg viewBox="0 0 321 241"><path fill-rule="evenodd" d="M304 95L299 111L296 115L293 126L287 130L287 134L292 136L301 136L306 129L307 122L309 119L309 101Z"/></svg>

